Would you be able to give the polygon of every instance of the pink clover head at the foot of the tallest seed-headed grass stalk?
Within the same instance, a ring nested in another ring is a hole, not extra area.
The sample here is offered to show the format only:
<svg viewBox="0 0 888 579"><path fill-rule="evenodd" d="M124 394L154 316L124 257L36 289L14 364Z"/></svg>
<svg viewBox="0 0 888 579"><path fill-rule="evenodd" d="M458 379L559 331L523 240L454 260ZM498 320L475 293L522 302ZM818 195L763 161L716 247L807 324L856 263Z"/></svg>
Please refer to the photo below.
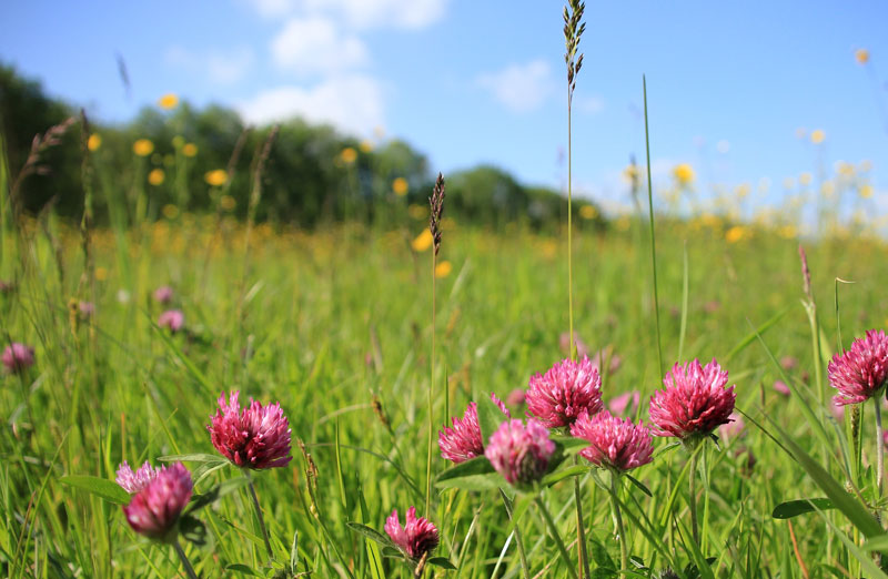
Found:
<svg viewBox="0 0 888 579"><path fill-rule="evenodd" d="M531 377L527 409L547 428L568 426L583 413L602 409L602 378L589 358L565 359Z"/></svg>

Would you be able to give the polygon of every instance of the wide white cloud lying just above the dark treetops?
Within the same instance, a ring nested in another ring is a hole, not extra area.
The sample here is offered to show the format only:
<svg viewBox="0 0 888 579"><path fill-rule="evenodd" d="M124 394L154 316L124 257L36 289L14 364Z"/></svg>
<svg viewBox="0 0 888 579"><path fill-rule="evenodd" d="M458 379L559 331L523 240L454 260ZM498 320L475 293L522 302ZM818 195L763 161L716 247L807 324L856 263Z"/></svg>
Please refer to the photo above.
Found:
<svg viewBox="0 0 888 579"><path fill-rule="evenodd" d="M369 135L384 125L383 88L375 79L349 74L311 88L279 87L236 105L245 121L263 124L302 116L347 133Z"/></svg>

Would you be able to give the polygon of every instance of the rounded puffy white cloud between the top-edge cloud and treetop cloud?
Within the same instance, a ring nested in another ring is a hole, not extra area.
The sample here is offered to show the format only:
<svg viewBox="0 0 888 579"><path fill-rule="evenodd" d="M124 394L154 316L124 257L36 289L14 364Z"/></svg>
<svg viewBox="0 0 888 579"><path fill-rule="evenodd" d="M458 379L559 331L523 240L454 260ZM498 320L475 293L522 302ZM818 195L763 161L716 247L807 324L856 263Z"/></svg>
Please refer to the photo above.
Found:
<svg viewBox="0 0 888 579"><path fill-rule="evenodd" d="M342 71L370 60L360 38L323 17L290 19L272 40L271 53L279 67L300 74Z"/></svg>

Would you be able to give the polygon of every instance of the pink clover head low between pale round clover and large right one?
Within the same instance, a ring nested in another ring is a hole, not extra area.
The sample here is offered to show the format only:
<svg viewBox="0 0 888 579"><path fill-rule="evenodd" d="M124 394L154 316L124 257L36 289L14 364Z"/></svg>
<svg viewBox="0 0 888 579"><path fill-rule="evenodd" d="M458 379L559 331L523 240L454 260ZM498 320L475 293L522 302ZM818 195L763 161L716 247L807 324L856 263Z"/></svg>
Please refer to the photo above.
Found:
<svg viewBox="0 0 888 579"><path fill-rule="evenodd" d="M589 441L589 447L579 455L593 465L625 473L650 463L654 455L654 439L650 429L612 416L607 410L589 418L583 413L571 425L571 435Z"/></svg>

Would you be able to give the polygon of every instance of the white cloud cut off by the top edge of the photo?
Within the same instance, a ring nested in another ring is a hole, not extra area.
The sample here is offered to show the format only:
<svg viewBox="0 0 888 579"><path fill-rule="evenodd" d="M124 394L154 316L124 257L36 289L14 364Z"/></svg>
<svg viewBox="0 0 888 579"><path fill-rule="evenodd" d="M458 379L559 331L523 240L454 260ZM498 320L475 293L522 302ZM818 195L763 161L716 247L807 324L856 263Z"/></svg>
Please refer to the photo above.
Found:
<svg viewBox="0 0 888 579"><path fill-rule="evenodd" d="M249 0L265 18L326 14L359 29L418 30L437 22L450 0Z"/></svg>

